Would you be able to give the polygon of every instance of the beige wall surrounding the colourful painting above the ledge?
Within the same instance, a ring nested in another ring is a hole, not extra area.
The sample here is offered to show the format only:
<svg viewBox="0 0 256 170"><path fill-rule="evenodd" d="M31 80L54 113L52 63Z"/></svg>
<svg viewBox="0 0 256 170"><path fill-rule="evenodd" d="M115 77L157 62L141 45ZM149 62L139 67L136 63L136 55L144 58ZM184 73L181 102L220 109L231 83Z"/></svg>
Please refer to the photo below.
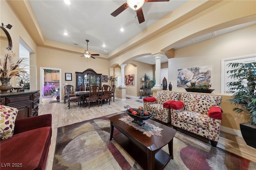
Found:
<svg viewBox="0 0 256 170"><path fill-rule="evenodd" d="M212 93L221 93L221 60L256 54L256 25L230 32L203 42L175 50L175 57L168 59L168 82L175 91L186 91L177 87L178 69L212 66Z"/></svg>

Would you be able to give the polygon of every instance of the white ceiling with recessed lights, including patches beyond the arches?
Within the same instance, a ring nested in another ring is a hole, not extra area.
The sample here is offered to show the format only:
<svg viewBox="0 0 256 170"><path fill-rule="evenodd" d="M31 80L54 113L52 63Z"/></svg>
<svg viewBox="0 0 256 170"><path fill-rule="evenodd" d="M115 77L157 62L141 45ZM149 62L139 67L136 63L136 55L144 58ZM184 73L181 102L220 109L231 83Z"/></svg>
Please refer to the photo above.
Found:
<svg viewBox="0 0 256 170"><path fill-rule="evenodd" d="M116 17L110 15L124 2L126 0L71 0L71 4L67 5L63 0L30 0L44 38L84 49L87 49L85 40L89 40L89 52L97 51L104 54L108 54L124 44L168 13L186 3L187 0L145 2L142 6L145 22L142 24L138 23L136 12L131 8L127 8ZM120 28L124 28L124 32L120 32ZM68 36L64 36L64 32L67 32ZM194 39L180 44L175 49L213 38L226 32L230 32L230 30L209 33L206 37L198 38L199 40ZM106 45L106 47L102 45ZM155 64L152 55L151 57L140 57L136 60ZM168 62L165 55L162 56L161 62Z"/></svg>

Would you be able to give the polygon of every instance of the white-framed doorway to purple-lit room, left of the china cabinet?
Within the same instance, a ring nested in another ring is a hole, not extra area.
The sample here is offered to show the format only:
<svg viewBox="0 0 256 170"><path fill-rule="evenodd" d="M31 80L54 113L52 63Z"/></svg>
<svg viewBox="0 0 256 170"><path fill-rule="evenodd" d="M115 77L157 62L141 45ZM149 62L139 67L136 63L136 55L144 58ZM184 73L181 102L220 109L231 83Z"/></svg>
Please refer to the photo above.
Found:
<svg viewBox="0 0 256 170"><path fill-rule="evenodd" d="M51 71L49 71L49 70L51 70ZM54 75L51 75L51 78L50 78L49 77L50 74L48 74L48 77L46 77L47 72L48 73L50 73L50 72L54 73ZM62 85L61 85L61 69L59 69L59 68L49 68L49 67L40 67L40 93L42 95L40 95L40 103L39 104L42 104L42 96L45 96L45 95L51 96L51 87L58 88L59 89L59 94L60 94L60 96L62 96L62 93L61 93L61 88L62 88Z"/></svg>

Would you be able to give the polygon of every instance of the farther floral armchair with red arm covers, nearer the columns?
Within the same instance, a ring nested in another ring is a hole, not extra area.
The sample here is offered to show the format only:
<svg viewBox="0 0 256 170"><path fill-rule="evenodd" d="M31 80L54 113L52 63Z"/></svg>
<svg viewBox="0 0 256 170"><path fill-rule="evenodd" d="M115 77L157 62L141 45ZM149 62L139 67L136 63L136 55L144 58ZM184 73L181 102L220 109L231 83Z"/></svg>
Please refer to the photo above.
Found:
<svg viewBox="0 0 256 170"><path fill-rule="evenodd" d="M171 121L170 116L170 103L178 101L180 93L171 91L157 91L156 97L143 98L144 109L151 113L156 113L155 119L163 123Z"/></svg>

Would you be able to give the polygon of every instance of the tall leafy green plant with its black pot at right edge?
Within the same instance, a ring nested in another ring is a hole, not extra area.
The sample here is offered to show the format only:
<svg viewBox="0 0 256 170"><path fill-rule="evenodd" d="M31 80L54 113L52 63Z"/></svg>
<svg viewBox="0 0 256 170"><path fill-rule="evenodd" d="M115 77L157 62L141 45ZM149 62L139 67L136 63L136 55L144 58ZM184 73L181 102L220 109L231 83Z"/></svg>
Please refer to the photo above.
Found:
<svg viewBox="0 0 256 170"><path fill-rule="evenodd" d="M240 130L246 144L256 148L256 62L229 63L228 67L232 79L227 83L232 94L228 101L234 103L233 111L250 115L251 122L240 123Z"/></svg>

